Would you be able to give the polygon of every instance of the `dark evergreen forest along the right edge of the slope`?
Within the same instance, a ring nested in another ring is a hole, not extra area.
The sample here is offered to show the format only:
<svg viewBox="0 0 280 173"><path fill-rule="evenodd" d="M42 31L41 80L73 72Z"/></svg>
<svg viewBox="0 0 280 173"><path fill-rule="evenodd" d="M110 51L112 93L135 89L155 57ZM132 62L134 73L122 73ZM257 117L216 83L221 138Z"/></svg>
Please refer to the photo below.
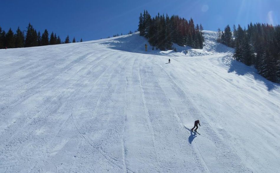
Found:
<svg viewBox="0 0 280 173"><path fill-rule="evenodd" d="M266 79L280 83L280 25L248 24L247 28L227 25L218 29L217 41L235 48L234 58L255 66Z"/></svg>

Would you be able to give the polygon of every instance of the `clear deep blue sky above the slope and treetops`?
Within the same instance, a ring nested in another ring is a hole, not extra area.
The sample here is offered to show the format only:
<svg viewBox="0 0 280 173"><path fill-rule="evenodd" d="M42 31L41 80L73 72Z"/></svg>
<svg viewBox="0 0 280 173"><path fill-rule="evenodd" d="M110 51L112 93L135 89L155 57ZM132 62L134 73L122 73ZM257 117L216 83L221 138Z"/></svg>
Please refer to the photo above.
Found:
<svg viewBox="0 0 280 173"><path fill-rule="evenodd" d="M227 24L247 26L251 21L280 24L279 0L3 0L0 3L0 26L22 30L30 22L41 33L54 31L64 40L106 38L138 28L140 12L192 17L205 30L216 31Z"/></svg>

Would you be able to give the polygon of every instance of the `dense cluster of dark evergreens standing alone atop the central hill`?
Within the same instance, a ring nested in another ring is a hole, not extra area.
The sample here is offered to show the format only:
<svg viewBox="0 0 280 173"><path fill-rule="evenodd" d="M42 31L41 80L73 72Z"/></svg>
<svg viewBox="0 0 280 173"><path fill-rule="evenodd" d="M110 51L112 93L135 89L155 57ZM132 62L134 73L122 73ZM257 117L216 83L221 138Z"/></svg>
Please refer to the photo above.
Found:
<svg viewBox="0 0 280 173"><path fill-rule="evenodd" d="M140 14L138 31L140 36L149 39L151 46L160 50L172 50L172 43L179 46L190 46L194 49L202 49L204 36L202 25L194 24L193 19L167 14L151 18L147 10Z"/></svg>

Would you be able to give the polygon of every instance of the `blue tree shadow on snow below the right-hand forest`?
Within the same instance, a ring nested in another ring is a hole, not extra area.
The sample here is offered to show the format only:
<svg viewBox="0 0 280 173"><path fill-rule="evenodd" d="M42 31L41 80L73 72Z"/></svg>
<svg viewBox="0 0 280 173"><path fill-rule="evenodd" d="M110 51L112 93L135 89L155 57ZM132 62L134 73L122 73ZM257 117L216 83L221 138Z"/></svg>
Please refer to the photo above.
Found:
<svg viewBox="0 0 280 173"><path fill-rule="evenodd" d="M230 68L228 69L228 73L233 73L237 75L248 75L248 76L253 76L255 80L262 81L268 91L271 91L276 88L280 88L279 84L276 84L274 82L271 82L258 74L257 70L253 66L246 66L245 64L238 62L236 60L231 61L230 63Z"/></svg>

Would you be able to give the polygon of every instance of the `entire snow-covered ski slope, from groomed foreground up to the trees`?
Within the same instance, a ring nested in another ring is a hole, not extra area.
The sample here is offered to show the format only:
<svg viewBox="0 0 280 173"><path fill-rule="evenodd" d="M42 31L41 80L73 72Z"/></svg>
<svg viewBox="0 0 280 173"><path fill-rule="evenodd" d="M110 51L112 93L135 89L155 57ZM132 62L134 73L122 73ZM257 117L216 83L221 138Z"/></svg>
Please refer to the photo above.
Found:
<svg viewBox="0 0 280 173"><path fill-rule="evenodd" d="M205 37L1 49L0 172L280 172L280 86Z"/></svg>

